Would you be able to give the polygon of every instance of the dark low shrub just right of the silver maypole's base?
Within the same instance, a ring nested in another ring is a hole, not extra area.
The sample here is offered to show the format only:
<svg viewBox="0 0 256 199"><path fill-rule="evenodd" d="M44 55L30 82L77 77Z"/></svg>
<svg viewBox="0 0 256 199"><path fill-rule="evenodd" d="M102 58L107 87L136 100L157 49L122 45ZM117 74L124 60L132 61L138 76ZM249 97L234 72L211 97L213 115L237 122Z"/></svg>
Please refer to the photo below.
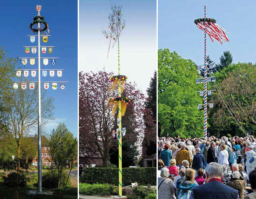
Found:
<svg viewBox="0 0 256 199"><path fill-rule="evenodd" d="M68 178L68 173L63 171L60 187L65 187L67 178ZM70 178L68 178L67 186L70 186L70 185L71 185ZM54 174L52 173L52 171L44 172L42 175L42 187L54 189L54 188L57 188L57 186L58 186L58 171L56 171Z"/></svg>

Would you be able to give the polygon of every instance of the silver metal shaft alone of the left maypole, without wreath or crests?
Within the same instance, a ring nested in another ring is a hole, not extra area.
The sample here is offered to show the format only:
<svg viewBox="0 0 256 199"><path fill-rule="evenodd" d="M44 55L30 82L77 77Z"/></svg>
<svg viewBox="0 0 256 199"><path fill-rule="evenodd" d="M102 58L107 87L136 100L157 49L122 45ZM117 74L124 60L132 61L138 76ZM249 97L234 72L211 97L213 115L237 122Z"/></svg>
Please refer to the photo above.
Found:
<svg viewBox="0 0 256 199"><path fill-rule="evenodd" d="M40 16L40 12L38 12ZM38 192L42 192L40 23L38 23Z"/></svg>

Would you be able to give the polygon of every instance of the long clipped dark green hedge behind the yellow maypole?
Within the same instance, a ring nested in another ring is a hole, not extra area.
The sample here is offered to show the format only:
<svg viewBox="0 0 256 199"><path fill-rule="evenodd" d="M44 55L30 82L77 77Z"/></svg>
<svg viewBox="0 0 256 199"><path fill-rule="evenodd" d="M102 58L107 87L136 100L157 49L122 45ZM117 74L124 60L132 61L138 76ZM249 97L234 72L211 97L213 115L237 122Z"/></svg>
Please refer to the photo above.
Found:
<svg viewBox="0 0 256 199"><path fill-rule="evenodd" d="M95 168L86 167L81 175L82 183L100 183L118 185L118 168ZM136 167L122 169L122 185L128 186L131 183L138 185L157 185L156 167Z"/></svg>

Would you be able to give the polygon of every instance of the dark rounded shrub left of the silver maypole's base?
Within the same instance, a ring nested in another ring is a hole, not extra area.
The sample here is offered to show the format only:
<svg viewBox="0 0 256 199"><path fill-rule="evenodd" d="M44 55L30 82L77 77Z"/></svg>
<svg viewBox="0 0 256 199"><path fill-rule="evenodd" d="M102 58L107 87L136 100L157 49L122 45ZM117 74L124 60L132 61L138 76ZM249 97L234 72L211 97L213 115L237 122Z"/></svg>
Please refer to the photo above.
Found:
<svg viewBox="0 0 256 199"><path fill-rule="evenodd" d="M27 176L25 173L11 172L3 176L4 185L10 187L25 187L27 185Z"/></svg>

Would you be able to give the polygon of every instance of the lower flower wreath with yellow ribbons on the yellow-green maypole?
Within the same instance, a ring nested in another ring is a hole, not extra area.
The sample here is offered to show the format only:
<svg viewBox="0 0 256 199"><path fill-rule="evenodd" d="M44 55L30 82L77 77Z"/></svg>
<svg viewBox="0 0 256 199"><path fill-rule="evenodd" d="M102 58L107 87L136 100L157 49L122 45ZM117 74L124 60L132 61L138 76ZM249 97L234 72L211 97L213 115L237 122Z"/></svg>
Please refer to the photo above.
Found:
<svg viewBox="0 0 256 199"><path fill-rule="evenodd" d="M128 103L130 103L130 101L131 100L128 97L109 97L107 99L107 106L110 107L114 105L114 108L112 109L112 116L113 116L116 110L118 109L119 102L121 102L121 110L122 110L121 116L124 116L126 112L126 106Z"/></svg>

